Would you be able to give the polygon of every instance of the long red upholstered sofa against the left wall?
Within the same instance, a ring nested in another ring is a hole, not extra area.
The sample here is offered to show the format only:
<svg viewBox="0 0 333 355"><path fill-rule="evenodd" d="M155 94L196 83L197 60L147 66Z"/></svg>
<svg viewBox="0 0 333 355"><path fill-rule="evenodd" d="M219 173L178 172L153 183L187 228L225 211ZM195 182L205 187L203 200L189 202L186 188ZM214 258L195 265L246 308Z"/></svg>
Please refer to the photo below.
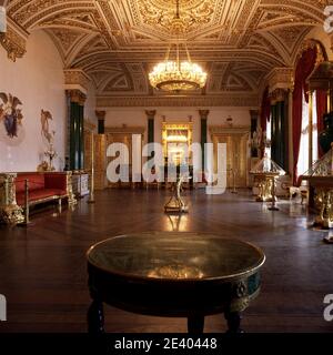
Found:
<svg viewBox="0 0 333 355"><path fill-rule="evenodd" d="M69 196L65 172L18 173L14 184L17 203L20 206L26 203L26 180L29 185L29 205Z"/></svg>

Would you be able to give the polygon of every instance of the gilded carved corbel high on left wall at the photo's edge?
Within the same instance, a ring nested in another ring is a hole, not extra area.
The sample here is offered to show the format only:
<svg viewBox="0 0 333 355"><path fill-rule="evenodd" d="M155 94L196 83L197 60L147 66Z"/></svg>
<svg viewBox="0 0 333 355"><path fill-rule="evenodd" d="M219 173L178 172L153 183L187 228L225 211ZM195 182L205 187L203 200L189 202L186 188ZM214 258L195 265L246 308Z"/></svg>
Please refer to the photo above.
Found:
<svg viewBox="0 0 333 355"><path fill-rule="evenodd" d="M7 51L8 58L13 62L22 58L27 52L27 40L29 33L8 18L7 32L0 33L0 43Z"/></svg>

